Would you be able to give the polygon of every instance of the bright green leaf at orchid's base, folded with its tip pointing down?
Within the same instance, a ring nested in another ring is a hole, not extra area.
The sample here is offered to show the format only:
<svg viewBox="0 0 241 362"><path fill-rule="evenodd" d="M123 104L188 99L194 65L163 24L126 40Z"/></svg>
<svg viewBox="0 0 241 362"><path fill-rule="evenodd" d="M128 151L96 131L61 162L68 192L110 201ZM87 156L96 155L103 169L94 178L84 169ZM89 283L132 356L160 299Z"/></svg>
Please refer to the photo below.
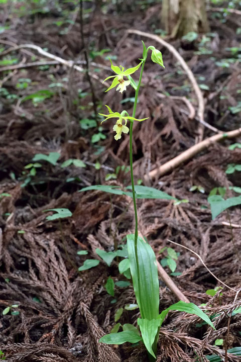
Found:
<svg viewBox="0 0 241 362"><path fill-rule="evenodd" d="M155 352L152 349L152 345L155 341L155 337L157 335L157 330L160 327L159 319L141 319L138 318L137 323L141 329L143 342L148 350L148 352L156 357Z"/></svg>

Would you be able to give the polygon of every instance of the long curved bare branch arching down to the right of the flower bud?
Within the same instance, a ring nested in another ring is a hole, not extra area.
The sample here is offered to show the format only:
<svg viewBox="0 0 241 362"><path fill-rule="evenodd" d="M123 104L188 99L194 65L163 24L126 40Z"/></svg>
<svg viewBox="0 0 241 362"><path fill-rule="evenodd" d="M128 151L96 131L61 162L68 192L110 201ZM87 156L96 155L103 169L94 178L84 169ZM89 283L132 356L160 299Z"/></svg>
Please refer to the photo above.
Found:
<svg viewBox="0 0 241 362"><path fill-rule="evenodd" d="M196 81L191 69L189 68L189 66L183 59L183 57L178 53L178 51L171 44L169 44L165 40L161 39L158 35L149 34L149 33L145 33L145 32L142 32L139 30L134 30L134 29L129 29L127 32L129 34L138 34L140 36L144 36L144 37L157 41L158 43L162 44L165 48L167 48L175 56L175 58L180 62L181 66L185 70L190 82L192 83L194 92L196 93L197 102L198 102L197 115L198 115L200 122L203 124L203 122L204 122L204 99L202 96L202 92L197 84L197 81ZM203 131L201 133L203 133ZM202 138L202 134L200 134L199 136L200 136L200 138Z"/></svg>

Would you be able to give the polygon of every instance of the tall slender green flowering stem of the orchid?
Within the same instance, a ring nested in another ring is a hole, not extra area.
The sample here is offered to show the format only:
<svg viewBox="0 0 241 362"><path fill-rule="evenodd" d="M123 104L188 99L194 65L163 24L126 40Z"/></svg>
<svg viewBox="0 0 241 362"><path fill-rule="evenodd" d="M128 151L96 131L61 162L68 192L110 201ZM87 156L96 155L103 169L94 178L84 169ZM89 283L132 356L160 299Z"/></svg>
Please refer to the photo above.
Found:
<svg viewBox="0 0 241 362"><path fill-rule="evenodd" d="M139 82L138 82L138 86L137 86L137 89L136 89L135 103L134 103L134 108L133 108L132 117L135 117L136 110L137 110L138 94L139 94L139 89L140 89L140 86L141 86L141 81L142 81L142 74L143 74L144 65L145 65L145 60L143 60L143 63L142 63L142 68L141 68L141 73L140 73L140 77L139 77ZM137 216L137 203L136 203L136 194L135 194L135 186L134 186L133 150L132 150L132 131L133 131L133 123L134 123L134 121L133 121L133 120L130 120L130 122L131 122L131 125L130 125L130 168L131 168L131 179L132 179L133 204L134 204L134 211L135 211L135 237L134 237L134 246L135 246L135 257L136 257L136 263L137 263L138 289L140 290L140 269L139 269L138 252L137 252L138 216Z"/></svg>

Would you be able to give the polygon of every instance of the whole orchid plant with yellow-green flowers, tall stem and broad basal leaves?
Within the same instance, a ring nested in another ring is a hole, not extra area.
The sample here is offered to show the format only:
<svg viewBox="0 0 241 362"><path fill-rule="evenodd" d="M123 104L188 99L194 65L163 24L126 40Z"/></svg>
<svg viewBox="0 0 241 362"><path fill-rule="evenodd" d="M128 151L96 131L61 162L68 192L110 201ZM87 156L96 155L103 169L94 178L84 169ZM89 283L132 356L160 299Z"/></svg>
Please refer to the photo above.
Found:
<svg viewBox="0 0 241 362"><path fill-rule="evenodd" d="M208 316L199 309L193 303L185 303L179 301L178 303L170 306L169 308L162 311L159 314L159 280L158 280L158 269L155 253L152 247L138 235L138 215L137 215L137 203L135 185L134 185L134 174L133 174L133 124L135 121L145 121L147 118L137 119L135 118L139 89L141 86L143 70L145 62L148 56L148 51L151 50L151 59L154 63L164 67L162 53L157 50L154 46L146 48L143 43L143 58L139 59L140 63L136 67L124 70L124 67L118 67L112 64L111 69L116 75L108 76L106 80L114 78L112 84L108 87L105 92L116 87L116 91L123 93L126 91L127 86L132 86L135 90L135 102L133 108L133 114L130 116L126 110L121 113L113 112L108 106L106 106L109 114L99 113L103 116L106 121L108 119L117 119L113 126L113 130L116 132L114 136L115 140L119 140L122 137L122 133L129 133L130 131L130 170L131 170L131 183L132 183L132 197L135 211L135 234L127 235L127 246L128 246L128 259L126 264L130 267L133 287L137 299L137 304L140 309L141 318L138 318L138 328L130 324L124 324L123 331L117 333L109 333L100 338L100 342L108 344L122 344L125 342L137 343L142 341L148 351L149 359L151 361L156 360L157 355L157 342L159 337L159 330L169 310L184 311L191 314L196 314L202 318L207 324L213 326ZM131 74L134 74L141 67L138 84L132 78ZM126 77L127 79L124 79ZM103 122L102 121L102 122ZM127 126L128 121L130 122L130 129ZM124 122L124 123L123 123ZM138 188L138 187L136 187ZM139 186L140 188L140 186ZM146 187L143 187L146 188ZM96 189L96 187L92 187ZM146 188L147 189L147 188ZM151 189L151 188L148 188ZM81 191L91 190L91 187L84 188ZM102 188L102 190L104 190ZM116 191L115 191L116 192ZM150 190L148 191L150 193ZM114 192L113 192L114 193ZM163 193L164 194L164 193ZM166 194L166 197L171 198Z"/></svg>

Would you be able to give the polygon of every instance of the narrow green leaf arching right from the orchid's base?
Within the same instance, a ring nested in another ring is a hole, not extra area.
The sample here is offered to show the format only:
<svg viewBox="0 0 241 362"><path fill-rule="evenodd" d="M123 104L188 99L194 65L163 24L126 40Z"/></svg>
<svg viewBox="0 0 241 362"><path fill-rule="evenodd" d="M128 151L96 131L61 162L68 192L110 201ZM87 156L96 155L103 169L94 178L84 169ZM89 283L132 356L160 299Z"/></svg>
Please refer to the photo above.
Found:
<svg viewBox="0 0 241 362"><path fill-rule="evenodd" d="M161 325L162 325L162 323L164 321L164 318L166 317L167 313L169 312L169 310L177 310L179 312L186 312L186 313L190 313L190 314L195 314L199 318L204 320L207 324L209 324L212 328L214 328L214 325L210 321L209 317L200 308L198 308L198 306L196 306L193 303L185 303L185 302L182 302L182 301L179 301L178 303L173 304L170 307L168 307L167 309L165 309L164 311L162 311L162 313L160 314Z"/></svg>

